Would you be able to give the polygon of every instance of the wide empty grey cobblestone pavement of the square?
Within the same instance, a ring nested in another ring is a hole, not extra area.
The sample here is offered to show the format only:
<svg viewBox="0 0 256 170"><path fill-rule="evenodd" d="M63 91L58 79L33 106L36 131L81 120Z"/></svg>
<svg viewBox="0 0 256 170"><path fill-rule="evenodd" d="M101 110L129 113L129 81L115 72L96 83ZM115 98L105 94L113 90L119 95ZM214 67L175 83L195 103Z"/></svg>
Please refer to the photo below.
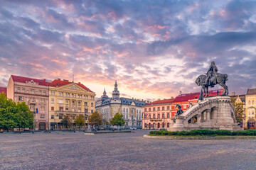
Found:
<svg viewBox="0 0 256 170"><path fill-rule="evenodd" d="M256 169L255 140L151 140L134 133L0 134L0 169Z"/></svg>

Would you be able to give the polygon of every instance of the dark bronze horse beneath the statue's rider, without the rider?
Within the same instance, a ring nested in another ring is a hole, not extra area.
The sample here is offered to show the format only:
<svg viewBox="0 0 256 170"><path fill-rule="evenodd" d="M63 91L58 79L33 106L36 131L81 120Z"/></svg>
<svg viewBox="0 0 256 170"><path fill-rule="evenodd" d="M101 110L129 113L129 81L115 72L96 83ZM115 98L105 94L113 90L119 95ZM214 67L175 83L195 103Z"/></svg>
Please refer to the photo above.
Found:
<svg viewBox="0 0 256 170"><path fill-rule="evenodd" d="M208 96L208 87L214 87L216 84L219 84L224 89L223 96L228 96L228 86L225 85L225 82L228 81L228 74L215 73L213 77L210 78L209 82L206 82L207 75L201 74L196 79L196 84L202 86L204 97Z"/></svg>

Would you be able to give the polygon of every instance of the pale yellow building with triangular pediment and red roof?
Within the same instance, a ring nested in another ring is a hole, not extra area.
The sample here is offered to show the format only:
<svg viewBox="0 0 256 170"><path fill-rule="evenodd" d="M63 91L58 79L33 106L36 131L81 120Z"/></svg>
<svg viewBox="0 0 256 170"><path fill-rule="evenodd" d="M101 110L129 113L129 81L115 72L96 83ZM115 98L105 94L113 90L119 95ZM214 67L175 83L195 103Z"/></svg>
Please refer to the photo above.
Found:
<svg viewBox="0 0 256 170"><path fill-rule="evenodd" d="M95 111L95 93L83 84L68 80L55 79L49 84L49 115L50 128L63 128L61 120L65 115L71 118L75 127L75 118L85 115L88 117Z"/></svg>

